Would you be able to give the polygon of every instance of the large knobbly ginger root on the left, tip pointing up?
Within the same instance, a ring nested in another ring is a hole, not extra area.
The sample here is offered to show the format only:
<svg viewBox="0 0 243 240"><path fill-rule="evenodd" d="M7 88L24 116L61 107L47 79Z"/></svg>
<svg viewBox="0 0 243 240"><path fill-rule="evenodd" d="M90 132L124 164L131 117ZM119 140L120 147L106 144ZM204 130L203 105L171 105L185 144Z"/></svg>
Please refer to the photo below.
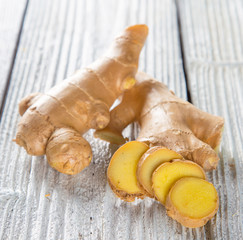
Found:
<svg viewBox="0 0 243 240"><path fill-rule="evenodd" d="M50 165L62 173L76 174L89 165L92 151L82 134L104 128L115 99L134 85L147 34L146 25L128 27L104 57L45 94L24 98L14 141L30 155L46 154Z"/></svg>

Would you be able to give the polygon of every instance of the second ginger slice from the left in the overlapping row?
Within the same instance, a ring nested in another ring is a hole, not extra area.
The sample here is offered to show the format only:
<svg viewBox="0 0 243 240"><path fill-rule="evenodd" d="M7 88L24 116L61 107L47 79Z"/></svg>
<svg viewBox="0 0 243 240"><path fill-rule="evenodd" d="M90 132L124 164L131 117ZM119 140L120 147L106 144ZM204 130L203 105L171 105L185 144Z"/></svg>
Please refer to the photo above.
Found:
<svg viewBox="0 0 243 240"><path fill-rule="evenodd" d="M137 167L137 179L146 190L148 196L154 196L152 174L155 169L162 163L169 162L173 159L182 159L182 156L163 147L152 147L141 157Z"/></svg>

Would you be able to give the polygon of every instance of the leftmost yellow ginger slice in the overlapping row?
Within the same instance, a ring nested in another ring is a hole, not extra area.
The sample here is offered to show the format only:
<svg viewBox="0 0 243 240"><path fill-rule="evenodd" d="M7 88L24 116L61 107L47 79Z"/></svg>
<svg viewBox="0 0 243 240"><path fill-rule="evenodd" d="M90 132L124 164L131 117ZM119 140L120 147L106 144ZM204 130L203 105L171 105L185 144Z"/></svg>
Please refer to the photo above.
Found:
<svg viewBox="0 0 243 240"><path fill-rule="evenodd" d="M136 169L139 159L148 148L148 145L142 142L128 142L111 158L107 178L111 189L119 198L132 202L136 197L144 197L144 192L137 182Z"/></svg>

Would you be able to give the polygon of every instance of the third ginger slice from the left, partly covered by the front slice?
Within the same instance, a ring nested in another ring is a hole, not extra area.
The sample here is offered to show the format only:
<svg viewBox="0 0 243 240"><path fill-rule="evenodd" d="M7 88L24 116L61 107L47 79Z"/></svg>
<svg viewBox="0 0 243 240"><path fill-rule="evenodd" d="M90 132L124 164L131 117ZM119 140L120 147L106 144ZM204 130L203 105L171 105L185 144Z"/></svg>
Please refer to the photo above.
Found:
<svg viewBox="0 0 243 240"><path fill-rule="evenodd" d="M166 196L171 187L182 177L206 178L204 170L194 162L175 160L172 163L163 163L154 171L152 176L155 198L165 204Z"/></svg>

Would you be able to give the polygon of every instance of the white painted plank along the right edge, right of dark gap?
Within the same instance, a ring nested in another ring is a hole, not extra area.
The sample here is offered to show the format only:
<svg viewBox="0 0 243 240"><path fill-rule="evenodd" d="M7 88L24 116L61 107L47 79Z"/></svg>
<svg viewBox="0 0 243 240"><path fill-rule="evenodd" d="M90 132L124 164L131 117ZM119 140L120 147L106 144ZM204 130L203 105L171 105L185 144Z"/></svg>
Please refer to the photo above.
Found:
<svg viewBox="0 0 243 240"><path fill-rule="evenodd" d="M212 239L243 238L243 2L178 1L193 103L225 119Z"/></svg>

